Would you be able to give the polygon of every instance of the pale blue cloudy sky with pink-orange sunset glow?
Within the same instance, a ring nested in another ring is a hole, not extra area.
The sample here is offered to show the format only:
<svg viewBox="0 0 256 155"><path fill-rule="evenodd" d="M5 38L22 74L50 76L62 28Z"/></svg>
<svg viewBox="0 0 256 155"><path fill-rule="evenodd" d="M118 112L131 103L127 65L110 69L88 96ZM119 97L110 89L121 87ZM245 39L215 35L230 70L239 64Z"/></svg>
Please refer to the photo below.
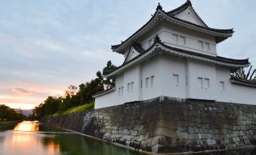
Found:
<svg viewBox="0 0 256 155"><path fill-rule="evenodd" d="M108 60L124 57L111 44L124 41L150 20L160 2L164 11L185 0L2 0L0 3L0 104L33 108L47 96L95 78ZM217 44L219 56L249 58L256 66L256 1L191 0L216 29L233 28Z"/></svg>

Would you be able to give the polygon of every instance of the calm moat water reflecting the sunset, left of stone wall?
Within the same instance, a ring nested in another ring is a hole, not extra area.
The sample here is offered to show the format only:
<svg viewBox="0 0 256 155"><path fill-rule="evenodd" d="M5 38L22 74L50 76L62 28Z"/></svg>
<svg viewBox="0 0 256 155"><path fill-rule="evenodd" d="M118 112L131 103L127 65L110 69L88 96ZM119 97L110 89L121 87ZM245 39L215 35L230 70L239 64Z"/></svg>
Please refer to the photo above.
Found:
<svg viewBox="0 0 256 155"><path fill-rule="evenodd" d="M0 131L1 155L114 154L142 155L83 135L24 121L14 129Z"/></svg>

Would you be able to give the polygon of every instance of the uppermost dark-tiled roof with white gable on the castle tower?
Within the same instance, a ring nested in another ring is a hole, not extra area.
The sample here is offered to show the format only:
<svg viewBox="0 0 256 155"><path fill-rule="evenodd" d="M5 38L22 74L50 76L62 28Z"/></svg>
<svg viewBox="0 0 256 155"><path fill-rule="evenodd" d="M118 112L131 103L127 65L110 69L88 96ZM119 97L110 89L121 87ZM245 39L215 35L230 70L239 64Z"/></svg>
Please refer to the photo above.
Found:
<svg viewBox="0 0 256 155"><path fill-rule="evenodd" d="M193 9L190 0L187 0L184 5L181 5L179 8L168 12L163 11L162 6L159 4L156 8L155 14L153 14L153 17L151 17L145 25L138 29L137 32L134 32L133 35L131 35L125 41L122 41L121 44L112 45L111 48L113 52L123 54L125 48L130 47L133 41L136 41L137 38L145 35L162 22L172 23L174 25L184 27L184 29L191 29L196 32L212 35L216 38L216 43L224 41L233 35L233 29L213 29L208 27Z"/></svg>

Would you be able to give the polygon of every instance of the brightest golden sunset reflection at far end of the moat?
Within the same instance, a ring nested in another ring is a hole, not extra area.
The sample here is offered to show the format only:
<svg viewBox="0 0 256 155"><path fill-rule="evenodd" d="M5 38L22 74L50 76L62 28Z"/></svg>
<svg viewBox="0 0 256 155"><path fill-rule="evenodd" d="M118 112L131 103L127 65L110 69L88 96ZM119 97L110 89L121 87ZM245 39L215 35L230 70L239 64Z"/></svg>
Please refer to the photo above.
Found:
<svg viewBox="0 0 256 155"><path fill-rule="evenodd" d="M14 131L23 131L23 132L36 132L39 131L39 122L38 121L23 121L18 123L14 127Z"/></svg>

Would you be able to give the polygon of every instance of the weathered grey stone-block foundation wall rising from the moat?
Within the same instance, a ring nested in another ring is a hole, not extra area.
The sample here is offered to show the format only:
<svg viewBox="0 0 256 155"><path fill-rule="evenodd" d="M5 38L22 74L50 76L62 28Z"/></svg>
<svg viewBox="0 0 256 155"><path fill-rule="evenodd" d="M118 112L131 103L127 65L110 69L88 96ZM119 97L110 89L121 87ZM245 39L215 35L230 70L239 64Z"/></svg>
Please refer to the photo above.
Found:
<svg viewBox="0 0 256 155"><path fill-rule="evenodd" d="M254 147L256 106L159 97L42 122L154 153Z"/></svg>

